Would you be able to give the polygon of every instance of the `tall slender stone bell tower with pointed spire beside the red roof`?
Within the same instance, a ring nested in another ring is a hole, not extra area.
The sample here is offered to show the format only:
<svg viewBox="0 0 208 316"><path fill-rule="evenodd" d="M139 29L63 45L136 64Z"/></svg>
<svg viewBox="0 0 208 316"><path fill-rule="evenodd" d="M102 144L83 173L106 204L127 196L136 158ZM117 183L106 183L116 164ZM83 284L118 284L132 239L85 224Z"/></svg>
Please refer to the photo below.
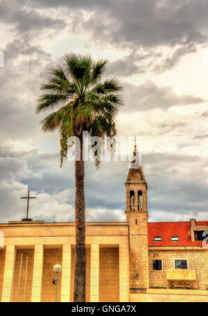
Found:
<svg viewBox="0 0 208 316"><path fill-rule="evenodd" d="M130 235L130 292L145 292L149 287L147 188L135 145L125 182L125 214Z"/></svg>

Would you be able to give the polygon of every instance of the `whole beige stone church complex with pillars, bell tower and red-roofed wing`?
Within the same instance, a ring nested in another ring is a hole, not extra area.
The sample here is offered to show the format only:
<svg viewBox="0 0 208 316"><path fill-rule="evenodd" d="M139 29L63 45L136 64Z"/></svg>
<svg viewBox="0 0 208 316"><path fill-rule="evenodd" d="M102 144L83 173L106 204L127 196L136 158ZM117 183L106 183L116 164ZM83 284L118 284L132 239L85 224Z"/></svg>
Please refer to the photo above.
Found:
<svg viewBox="0 0 208 316"><path fill-rule="evenodd" d="M148 222L136 148L132 162L126 222L86 223L86 301L208 301L208 221ZM56 264L57 301L73 301L73 222L8 222L0 240L0 301L55 301Z"/></svg>

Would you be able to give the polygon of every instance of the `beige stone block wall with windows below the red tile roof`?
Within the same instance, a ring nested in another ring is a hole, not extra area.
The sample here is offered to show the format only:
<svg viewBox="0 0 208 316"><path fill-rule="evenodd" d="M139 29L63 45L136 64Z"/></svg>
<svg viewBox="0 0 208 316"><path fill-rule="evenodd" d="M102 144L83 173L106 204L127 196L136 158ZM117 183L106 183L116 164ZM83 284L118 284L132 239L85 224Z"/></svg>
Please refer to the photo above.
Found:
<svg viewBox="0 0 208 316"><path fill-rule="evenodd" d="M162 259L162 271L153 270L153 260ZM174 269L174 259L187 259L188 269L196 270L196 281L167 281L166 270ZM204 249L149 250L150 287L208 288L208 251Z"/></svg>

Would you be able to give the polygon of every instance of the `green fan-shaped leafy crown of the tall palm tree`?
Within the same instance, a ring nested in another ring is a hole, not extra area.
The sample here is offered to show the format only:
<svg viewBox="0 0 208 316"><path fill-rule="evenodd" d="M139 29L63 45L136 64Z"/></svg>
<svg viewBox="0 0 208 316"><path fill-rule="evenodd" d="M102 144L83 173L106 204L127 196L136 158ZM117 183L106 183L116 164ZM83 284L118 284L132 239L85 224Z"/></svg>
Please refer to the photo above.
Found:
<svg viewBox="0 0 208 316"><path fill-rule="evenodd" d="M123 100L123 87L116 78L101 82L108 60L94 62L91 55L69 53L64 56L64 68L54 67L48 82L41 86L46 91L38 99L36 114L58 107L41 122L44 132L60 131L61 166L67 157L67 140L87 130L92 136L116 134L115 121ZM98 159L98 157L96 157Z"/></svg>

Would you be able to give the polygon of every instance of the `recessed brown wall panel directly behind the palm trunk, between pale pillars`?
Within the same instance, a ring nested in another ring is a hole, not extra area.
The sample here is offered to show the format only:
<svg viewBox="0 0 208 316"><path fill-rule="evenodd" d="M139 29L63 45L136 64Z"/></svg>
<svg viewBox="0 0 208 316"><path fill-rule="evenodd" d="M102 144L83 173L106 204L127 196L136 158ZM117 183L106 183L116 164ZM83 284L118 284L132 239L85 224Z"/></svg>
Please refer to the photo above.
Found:
<svg viewBox="0 0 208 316"><path fill-rule="evenodd" d="M86 301L90 301L90 248L86 249ZM74 268L75 268L75 248L71 249L71 291L70 301L73 301L73 288L74 288Z"/></svg>

